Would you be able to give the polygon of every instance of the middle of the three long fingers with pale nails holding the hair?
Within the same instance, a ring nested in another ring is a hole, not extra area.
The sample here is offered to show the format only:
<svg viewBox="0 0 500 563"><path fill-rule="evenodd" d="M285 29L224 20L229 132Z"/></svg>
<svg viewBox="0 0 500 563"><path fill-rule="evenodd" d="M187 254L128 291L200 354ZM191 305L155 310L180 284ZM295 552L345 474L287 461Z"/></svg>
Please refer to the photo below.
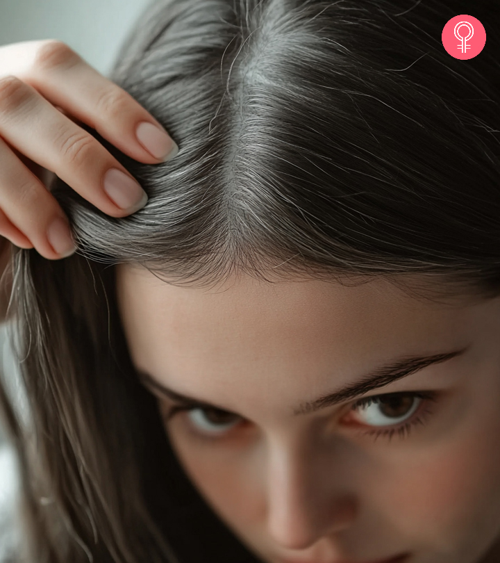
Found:
<svg viewBox="0 0 500 563"><path fill-rule="evenodd" d="M0 136L108 215L123 217L147 201L97 139L15 76L0 79Z"/></svg>

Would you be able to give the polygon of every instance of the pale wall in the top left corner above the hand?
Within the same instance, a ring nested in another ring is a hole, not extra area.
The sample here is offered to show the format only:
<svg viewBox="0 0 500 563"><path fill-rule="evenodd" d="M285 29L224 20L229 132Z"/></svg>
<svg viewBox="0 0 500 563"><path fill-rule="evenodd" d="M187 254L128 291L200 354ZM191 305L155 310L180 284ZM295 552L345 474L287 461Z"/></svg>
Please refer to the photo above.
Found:
<svg viewBox="0 0 500 563"><path fill-rule="evenodd" d="M59 39L106 74L148 0L0 0L0 45Z"/></svg>

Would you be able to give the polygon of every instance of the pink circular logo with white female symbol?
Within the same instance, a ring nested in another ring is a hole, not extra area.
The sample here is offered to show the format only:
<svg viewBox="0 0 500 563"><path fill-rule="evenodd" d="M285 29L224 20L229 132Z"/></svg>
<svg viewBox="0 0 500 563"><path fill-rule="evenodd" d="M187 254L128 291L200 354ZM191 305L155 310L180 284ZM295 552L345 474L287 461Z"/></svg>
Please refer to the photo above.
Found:
<svg viewBox="0 0 500 563"><path fill-rule="evenodd" d="M486 31L476 17L461 14L448 20L441 39L449 55L465 60L474 58L483 51Z"/></svg>

